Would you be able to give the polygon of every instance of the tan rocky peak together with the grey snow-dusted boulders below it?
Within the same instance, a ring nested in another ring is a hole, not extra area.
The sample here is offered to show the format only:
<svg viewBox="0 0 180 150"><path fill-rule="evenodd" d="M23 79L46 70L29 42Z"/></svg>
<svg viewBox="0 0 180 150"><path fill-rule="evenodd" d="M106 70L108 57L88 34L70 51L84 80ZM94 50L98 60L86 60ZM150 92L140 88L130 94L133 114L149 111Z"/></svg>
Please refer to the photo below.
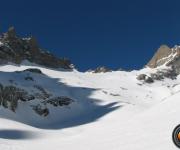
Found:
<svg viewBox="0 0 180 150"><path fill-rule="evenodd" d="M139 74L138 80L153 83L155 80L176 79L180 74L180 46L173 48L162 45L148 62L146 67L155 69L154 73Z"/></svg>

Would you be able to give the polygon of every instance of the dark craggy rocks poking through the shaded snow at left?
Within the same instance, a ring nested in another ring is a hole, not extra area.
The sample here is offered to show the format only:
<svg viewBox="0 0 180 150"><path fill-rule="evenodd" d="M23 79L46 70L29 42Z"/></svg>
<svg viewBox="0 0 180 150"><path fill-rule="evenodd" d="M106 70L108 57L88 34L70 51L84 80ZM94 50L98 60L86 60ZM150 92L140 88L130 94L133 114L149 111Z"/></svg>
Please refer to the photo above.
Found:
<svg viewBox="0 0 180 150"><path fill-rule="evenodd" d="M0 106L15 112L20 101L29 102L36 100L37 102L40 101L40 103L32 105L32 109L38 115L45 117L50 113L47 104L54 107L62 107L74 102L74 100L65 96L53 97L52 94L48 93L46 89L39 85L34 85L34 88L37 89L38 92L32 95L22 88L11 85L4 86L0 83Z"/></svg>

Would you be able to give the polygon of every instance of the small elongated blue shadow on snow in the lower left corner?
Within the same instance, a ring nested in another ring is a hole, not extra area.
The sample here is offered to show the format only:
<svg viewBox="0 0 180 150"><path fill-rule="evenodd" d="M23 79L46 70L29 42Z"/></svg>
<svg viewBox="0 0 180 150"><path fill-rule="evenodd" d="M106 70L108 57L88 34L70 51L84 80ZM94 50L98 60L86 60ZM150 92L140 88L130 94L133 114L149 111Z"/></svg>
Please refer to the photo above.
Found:
<svg viewBox="0 0 180 150"><path fill-rule="evenodd" d="M9 139L9 140L26 140L26 139L36 139L39 135L32 131L26 130L10 130L2 129L0 130L0 139Z"/></svg>

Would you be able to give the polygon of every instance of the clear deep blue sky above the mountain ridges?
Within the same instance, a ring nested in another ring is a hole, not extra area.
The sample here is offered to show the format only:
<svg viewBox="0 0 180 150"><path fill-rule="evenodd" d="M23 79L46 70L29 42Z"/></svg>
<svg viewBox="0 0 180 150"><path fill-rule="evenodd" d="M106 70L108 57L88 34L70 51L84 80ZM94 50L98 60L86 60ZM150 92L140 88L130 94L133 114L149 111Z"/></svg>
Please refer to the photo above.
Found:
<svg viewBox="0 0 180 150"><path fill-rule="evenodd" d="M9 26L79 70L137 69L161 44L180 44L180 0L6 0L0 31Z"/></svg>

